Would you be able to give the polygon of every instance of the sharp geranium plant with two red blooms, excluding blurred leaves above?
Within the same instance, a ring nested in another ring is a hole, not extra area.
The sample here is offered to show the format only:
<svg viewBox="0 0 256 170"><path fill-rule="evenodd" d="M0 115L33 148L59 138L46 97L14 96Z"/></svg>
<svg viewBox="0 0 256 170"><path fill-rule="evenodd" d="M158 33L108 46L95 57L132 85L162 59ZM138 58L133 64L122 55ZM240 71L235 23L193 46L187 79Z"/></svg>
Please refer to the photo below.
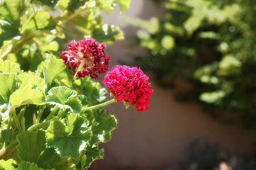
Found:
<svg viewBox="0 0 256 170"><path fill-rule="evenodd" d="M35 71L0 62L1 168L87 169L103 156L100 142L110 140L117 121L102 109L114 101L138 111L150 104L148 77L137 67L115 66L103 81L114 99L94 82L108 70L105 46L94 39L71 41ZM67 64L67 65L65 65Z"/></svg>

